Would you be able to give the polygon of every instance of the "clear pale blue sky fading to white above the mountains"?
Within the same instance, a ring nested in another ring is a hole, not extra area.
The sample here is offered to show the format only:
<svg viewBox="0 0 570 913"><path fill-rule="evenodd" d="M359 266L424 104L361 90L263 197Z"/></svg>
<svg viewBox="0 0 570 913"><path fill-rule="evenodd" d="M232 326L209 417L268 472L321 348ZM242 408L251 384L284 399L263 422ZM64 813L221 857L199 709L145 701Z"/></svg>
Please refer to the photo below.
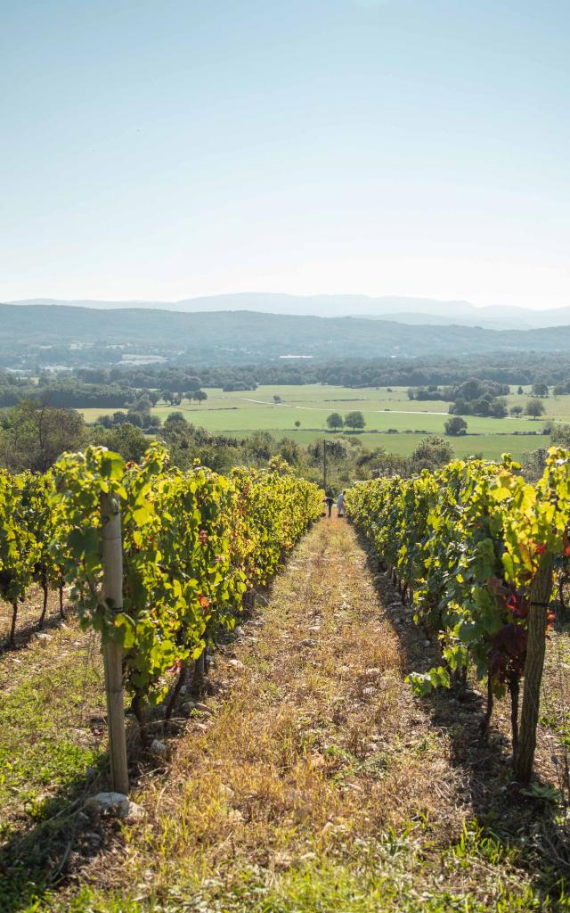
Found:
<svg viewBox="0 0 570 913"><path fill-rule="evenodd" d="M570 305L568 0L0 14L0 300Z"/></svg>

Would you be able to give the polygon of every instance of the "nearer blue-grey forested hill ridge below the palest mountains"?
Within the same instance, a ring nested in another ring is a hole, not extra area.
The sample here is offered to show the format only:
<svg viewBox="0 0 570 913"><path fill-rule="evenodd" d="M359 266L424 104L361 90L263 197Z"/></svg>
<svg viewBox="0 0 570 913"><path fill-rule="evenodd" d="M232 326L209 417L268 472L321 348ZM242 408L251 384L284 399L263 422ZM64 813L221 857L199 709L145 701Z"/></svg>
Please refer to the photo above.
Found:
<svg viewBox="0 0 570 913"><path fill-rule="evenodd" d="M486 352L567 352L570 326L489 330L470 326L407 325L369 318L298 317L248 310L181 313L96 310L61 305L0 305L0 347L38 352L77 351L81 345L137 348L196 364L315 359L443 356ZM63 357L63 355L62 355Z"/></svg>

